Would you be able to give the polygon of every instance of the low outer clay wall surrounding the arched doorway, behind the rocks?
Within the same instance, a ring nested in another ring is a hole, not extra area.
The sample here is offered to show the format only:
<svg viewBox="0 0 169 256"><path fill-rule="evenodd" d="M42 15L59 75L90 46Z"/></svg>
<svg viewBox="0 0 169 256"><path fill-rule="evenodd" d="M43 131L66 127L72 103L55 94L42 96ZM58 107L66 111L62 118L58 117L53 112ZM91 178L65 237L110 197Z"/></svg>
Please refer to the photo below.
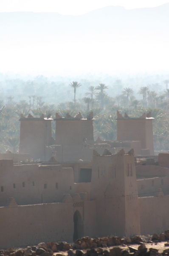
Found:
<svg viewBox="0 0 169 256"><path fill-rule="evenodd" d="M72 242L73 214L76 210L82 216L84 235L96 235L95 202L86 201L82 207L73 207L73 203L68 202L0 207L0 244L5 248L34 245L42 241Z"/></svg>

